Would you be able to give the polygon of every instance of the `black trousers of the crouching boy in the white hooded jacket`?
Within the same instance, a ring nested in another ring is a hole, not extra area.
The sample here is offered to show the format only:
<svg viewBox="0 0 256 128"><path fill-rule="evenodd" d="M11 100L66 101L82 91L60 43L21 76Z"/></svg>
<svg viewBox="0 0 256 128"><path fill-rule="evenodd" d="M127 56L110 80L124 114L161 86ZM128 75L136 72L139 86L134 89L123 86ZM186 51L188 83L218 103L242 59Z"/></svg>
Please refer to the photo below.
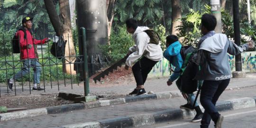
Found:
<svg viewBox="0 0 256 128"><path fill-rule="evenodd" d="M134 75L137 86L144 85L146 82L147 74L151 71L157 62L158 61L150 60L144 56L132 66L132 73Z"/></svg>

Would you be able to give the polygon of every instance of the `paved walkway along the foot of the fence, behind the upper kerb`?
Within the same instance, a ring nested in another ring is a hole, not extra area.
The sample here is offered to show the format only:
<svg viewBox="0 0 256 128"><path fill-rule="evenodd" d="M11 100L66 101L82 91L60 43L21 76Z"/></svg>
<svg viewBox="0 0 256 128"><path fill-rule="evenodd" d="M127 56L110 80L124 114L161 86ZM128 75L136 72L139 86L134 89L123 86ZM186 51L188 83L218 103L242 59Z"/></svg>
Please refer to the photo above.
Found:
<svg viewBox="0 0 256 128"><path fill-rule="evenodd" d="M178 91L177 86L175 85L175 82L171 86L167 86L168 78L160 78L160 79L148 79L145 83L145 89L146 91L153 91L153 92L165 92L165 91ZM123 81L122 81L123 80ZM120 82L121 81L121 82ZM131 75L128 79L120 78L119 82L116 83L103 83L100 82L91 83L90 84L90 92L92 94L122 94L126 95L129 92L133 91L133 89L136 87L136 82L133 78L133 75ZM256 73L247 73L247 78L232 78L229 86L227 89L234 89L234 88L243 88L248 86L256 86ZM11 93L7 94L6 87L1 87L1 96L9 96L9 95L15 95L15 92L12 91ZM49 93L49 94L57 94L59 92L67 92L67 93L75 93L75 94L84 94L83 89L83 82L79 84L73 84L73 89L70 84L66 84L66 87L64 85L59 86L60 91L58 91L58 86L54 85L51 89L51 86L49 83L46 83L46 92L44 91L31 91L32 94L39 94L39 93ZM24 87L24 91L22 92L22 89L20 86L17 87L17 95L27 95L29 94L29 88L28 86Z"/></svg>

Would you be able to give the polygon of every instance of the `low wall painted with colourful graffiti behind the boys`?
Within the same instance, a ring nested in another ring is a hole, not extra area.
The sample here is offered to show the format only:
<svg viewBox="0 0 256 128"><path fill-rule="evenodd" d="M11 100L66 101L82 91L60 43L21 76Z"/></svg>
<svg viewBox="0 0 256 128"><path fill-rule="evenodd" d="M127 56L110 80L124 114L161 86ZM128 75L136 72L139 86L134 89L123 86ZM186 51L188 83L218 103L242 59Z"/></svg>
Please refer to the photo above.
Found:
<svg viewBox="0 0 256 128"><path fill-rule="evenodd" d="M232 71L236 70L234 55L229 55L229 65ZM242 53L242 68L243 68L243 71L247 73L256 72L256 52ZM169 64L169 61L164 58L163 60L155 64L155 66L149 73L148 77L163 77L163 76L167 77L169 75L170 75L170 64Z"/></svg>

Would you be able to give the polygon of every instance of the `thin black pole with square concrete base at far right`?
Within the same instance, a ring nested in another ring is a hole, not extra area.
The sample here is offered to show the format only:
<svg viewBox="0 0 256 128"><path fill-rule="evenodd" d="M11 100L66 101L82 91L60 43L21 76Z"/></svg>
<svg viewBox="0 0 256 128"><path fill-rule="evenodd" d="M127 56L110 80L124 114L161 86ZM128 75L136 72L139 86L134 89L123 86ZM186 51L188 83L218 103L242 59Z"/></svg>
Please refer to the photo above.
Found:
<svg viewBox="0 0 256 128"><path fill-rule="evenodd" d="M239 25L239 0L233 0L233 20L234 20L234 39L235 44L238 46L241 44L240 38L240 25ZM245 72L242 72L242 58L241 54L236 55L236 72L233 72L233 78L245 77Z"/></svg>

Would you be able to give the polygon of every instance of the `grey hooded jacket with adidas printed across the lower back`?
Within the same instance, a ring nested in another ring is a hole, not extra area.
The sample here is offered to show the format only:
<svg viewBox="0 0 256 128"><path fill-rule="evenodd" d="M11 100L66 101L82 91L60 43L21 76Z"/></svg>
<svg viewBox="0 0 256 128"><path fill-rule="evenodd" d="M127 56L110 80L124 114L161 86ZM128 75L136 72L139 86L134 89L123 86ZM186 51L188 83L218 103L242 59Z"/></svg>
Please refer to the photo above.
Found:
<svg viewBox="0 0 256 128"><path fill-rule="evenodd" d="M237 46L225 34L210 35L199 46L196 63L201 70L195 79L219 81L231 78L228 53L238 55L247 49L247 44Z"/></svg>

